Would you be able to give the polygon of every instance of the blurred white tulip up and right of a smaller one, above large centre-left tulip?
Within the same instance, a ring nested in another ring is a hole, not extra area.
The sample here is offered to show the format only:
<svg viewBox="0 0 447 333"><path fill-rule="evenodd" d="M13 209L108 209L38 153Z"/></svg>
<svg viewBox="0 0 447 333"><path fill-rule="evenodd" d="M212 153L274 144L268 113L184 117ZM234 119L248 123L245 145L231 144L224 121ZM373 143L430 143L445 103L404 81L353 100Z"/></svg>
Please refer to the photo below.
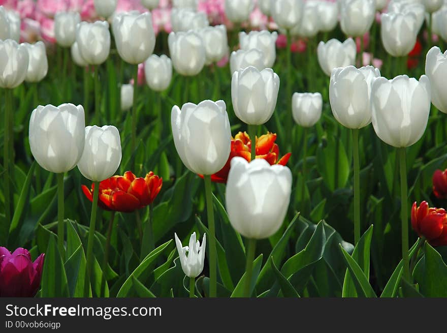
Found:
<svg viewBox="0 0 447 333"><path fill-rule="evenodd" d="M169 52L175 70L186 76L200 73L205 65L206 54L203 40L196 32L170 33Z"/></svg>

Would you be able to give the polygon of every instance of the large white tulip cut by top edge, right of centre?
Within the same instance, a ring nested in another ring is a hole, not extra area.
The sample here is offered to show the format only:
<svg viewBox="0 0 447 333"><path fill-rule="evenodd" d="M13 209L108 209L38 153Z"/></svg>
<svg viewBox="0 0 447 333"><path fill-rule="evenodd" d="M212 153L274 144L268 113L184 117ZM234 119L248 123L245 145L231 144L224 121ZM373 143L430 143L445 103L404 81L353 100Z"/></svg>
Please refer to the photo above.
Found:
<svg viewBox="0 0 447 333"><path fill-rule="evenodd" d="M353 37L365 35L375 18L374 0L342 0L340 6L343 33Z"/></svg>

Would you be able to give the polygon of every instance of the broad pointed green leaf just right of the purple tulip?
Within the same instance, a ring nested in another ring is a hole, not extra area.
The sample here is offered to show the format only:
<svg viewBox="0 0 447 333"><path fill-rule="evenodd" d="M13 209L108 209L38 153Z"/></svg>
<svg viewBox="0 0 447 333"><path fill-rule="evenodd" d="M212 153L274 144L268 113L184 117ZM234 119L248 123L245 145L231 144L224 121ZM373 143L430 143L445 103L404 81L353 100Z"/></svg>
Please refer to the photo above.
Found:
<svg viewBox="0 0 447 333"><path fill-rule="evenodd" d="M41 297L69 297L65 267L57 249L56 237L51 235L45 251L42 271Z"/></svg>

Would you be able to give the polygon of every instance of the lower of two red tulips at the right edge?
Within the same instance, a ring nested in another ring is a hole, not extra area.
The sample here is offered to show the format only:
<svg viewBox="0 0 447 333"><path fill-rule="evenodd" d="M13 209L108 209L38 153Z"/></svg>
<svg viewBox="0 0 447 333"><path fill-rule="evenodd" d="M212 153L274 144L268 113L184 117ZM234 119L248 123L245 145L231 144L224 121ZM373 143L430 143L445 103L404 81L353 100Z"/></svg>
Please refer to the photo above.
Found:
<svg viewBox="0 0 447 333"><path fill-rule="evenodd" d="M411 208L411 226L419 237L425 237L432 246L447 245L447 213L443 208L432 208L427 201Z"/></svg>

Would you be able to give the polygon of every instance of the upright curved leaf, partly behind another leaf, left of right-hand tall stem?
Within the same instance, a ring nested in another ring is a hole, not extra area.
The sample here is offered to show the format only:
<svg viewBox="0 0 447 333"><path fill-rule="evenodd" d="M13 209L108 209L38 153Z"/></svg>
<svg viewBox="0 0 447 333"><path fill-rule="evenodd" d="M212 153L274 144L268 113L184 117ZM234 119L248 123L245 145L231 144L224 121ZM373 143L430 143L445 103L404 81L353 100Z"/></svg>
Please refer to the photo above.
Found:
<svg viewBox="0 0 447 333"><path fill-rule="evenodd" d="M362 269L363 275L367 277L367 280L369 280L369 257L372 233L373 226L371 225L360 238L359 243L354 248L354 252L352 254L352 259ZM344 276L342 297L357 297L357 288L350 272L351 269L348 267Z"/></svg>

